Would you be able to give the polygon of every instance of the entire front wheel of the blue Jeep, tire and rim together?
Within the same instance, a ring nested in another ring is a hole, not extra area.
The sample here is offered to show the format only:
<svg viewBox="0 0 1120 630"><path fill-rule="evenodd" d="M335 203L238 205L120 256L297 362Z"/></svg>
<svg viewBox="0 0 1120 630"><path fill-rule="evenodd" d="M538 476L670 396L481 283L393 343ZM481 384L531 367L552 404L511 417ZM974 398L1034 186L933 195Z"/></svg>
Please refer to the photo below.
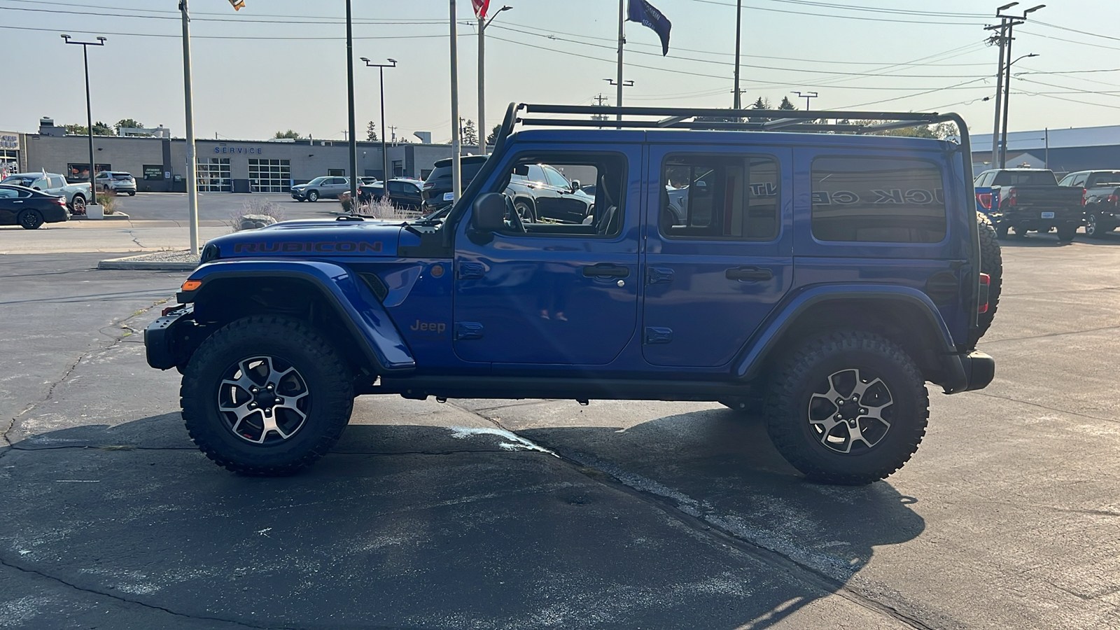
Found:
<svg viewBox="0 0 1120 630"><path fill-rule="evenodd" d="M338 441L354 402L338 351L297 319L253 316L207 339L187 363L183 419L218 465L293 473Z"/></svg>

